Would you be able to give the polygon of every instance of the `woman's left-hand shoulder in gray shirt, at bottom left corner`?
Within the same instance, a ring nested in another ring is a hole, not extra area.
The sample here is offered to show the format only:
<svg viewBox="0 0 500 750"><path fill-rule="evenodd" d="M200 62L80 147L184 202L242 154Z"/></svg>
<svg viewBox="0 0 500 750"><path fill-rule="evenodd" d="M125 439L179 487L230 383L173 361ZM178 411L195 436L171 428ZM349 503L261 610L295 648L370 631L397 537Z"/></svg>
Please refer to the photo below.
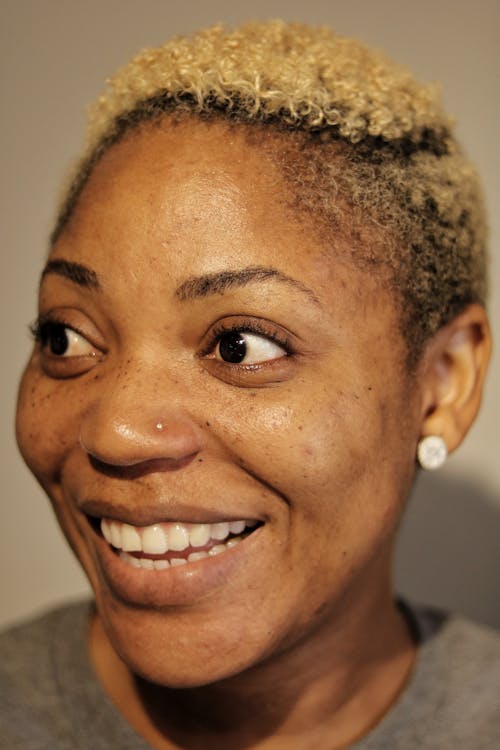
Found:
<svg viewBox="0 0 500 750"><path fill-rule="evenodd" d="M0 750L147 750L95 676L93 606L56 609L0 635Z"/></svg>

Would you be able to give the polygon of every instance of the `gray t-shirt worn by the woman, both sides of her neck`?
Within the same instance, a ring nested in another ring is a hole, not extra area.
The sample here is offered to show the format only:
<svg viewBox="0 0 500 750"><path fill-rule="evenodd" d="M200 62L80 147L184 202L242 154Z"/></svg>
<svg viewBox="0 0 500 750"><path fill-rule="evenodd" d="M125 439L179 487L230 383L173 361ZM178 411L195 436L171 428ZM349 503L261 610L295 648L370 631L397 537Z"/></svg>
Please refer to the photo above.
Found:
<svg viewBox="0 0 500 750"><path fill-rule="evenodd" d="M1 750L150 750L92 671L90 606L0 636ZM412 678L353 750L499 750L500 634L461 617L405 611L420 641Z"/></svg>

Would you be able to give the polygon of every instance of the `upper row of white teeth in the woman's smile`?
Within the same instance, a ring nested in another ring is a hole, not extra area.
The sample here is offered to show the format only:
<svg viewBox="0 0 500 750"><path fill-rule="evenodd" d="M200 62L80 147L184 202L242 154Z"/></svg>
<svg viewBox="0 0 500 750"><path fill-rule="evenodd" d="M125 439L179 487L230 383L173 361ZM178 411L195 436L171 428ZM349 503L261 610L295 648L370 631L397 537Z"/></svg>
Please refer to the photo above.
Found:
<svg viewBox="0 0 500 750"><path fill-rule="evenodd" d="M126 552L163 555L169 550L181 552L188 547L204 547L210 540L223 542L230 534L241 534L256 521L223 521L221 523L155 523L132 526L121 521L101 520L106 541Z"/></svg>

